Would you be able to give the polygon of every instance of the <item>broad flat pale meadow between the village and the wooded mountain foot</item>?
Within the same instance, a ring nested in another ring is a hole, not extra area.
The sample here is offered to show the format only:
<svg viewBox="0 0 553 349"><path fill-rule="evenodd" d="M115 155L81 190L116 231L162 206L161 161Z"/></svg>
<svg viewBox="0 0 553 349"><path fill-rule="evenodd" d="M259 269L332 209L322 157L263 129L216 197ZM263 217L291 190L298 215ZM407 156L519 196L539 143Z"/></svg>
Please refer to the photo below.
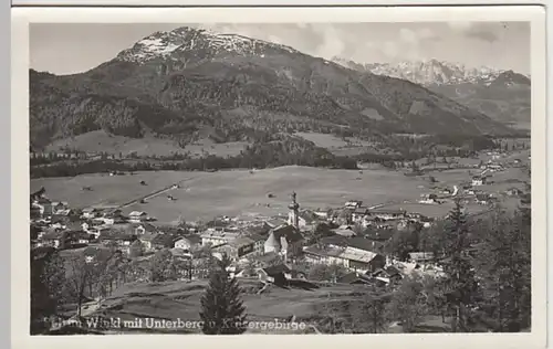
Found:
<svg viewBox="0 0 553 349"><path fill-rule="evenodd" d="M140 186L144 180L147 186ZM363 200L367 205L389 201L417 199L428 181L405 177L387 170L358 171L327 170L305 167L274 169L182 172L139 172L134 176L84 174L74 178L31 180L31 190L46 189L51 200L67 201L70 205L121 205L133 199L184 181L179 189L149 199L144 204L125 208L124 213L142 210L161 222L211 219L217 215L261 214L288 212L292 191L298 192L304 208L341 207L347 200ZM419 186L422 186L419 188ZM92 187L83 191L82 187ZM268 198L272 193L274 198ZM126 212L128 211L128 212Z"/></svg>

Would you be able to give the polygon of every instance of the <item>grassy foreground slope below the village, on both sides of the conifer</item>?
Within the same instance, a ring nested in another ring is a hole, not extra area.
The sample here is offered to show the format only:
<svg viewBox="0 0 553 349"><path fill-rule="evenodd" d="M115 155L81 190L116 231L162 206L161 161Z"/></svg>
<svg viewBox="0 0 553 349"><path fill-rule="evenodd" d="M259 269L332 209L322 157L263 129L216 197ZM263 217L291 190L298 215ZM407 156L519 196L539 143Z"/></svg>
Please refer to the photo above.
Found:
<svg viewBox="0 0 553 349"><path fill-rule="evenodd" d="M257 279L240 279L244 289L242 299L250 321L283 321L296 316L296 321L312 322L310 319L324 315L323 305L333 302L356 304L369 290L364 286L332 285L311 290L299 288L269 287L258 295L260 283ZM108 318L133 321L137 318L199 321L200 298L207 281L167 282L160 284L127 284L105 299L100 314ZM145 325L145 321L143 321ZM146 331L147 328L136 329ZM179 329L157 329L156 332L177 332ZM180 330L182 331L182 330ZM186 332L199 332L188 329Z"/></svg>

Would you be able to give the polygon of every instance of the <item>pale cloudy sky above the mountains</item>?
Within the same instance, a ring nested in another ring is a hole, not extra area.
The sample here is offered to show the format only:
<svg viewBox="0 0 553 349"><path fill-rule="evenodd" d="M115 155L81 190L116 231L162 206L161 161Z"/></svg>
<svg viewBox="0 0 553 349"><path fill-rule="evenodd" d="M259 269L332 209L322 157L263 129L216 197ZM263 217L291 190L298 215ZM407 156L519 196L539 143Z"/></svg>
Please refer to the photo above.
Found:
<svg viewBox="0 0 553 349"><path fill-rule="evenodd" d="M327 60L398 63L436 59L530 74L529 22L33 23L30 66L60 75L85 72L156 31L185 25L282 43Z"/></svg>

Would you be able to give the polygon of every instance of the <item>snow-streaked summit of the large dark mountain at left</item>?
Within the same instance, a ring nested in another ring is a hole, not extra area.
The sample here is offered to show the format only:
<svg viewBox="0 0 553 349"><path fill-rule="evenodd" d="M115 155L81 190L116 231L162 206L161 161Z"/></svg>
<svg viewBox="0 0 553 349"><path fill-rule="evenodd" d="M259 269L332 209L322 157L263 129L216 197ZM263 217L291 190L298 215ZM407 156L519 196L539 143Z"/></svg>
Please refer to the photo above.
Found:
<svg viewBox="0 0 553 349"><path fill-rule="evenodd" d="M238 34L223 34L205 29L182 27L169 32L155 32L138 41L133 47L122 51L116 60L142 64L157 59L178 60L187 52L205 56L223 52L262 56L265 53L274 53L274 51L298 52L285 45Z"/></svg>

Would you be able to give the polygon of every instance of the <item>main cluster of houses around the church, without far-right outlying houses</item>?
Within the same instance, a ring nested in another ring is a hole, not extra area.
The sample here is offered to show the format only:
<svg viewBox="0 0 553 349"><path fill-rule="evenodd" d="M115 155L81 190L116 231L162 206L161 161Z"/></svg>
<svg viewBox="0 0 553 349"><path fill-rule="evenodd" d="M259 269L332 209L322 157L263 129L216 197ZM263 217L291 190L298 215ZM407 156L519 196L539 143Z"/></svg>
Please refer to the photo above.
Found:
<svg viewBox="0 0 553 349"><path fill-rule="evenodd" d="M403 271L383 251L394 232L390 228L403 229L416 222L424 226L430 224L430 220L419 214L368 209L361 201L348 202L337 211L300 210L293 195L288 218L278 216L249 225L222 218L207 228L176 228L149 222L146 212L131 212L124 216L116 209L76 211L66 202L51 202L43 192L33 195L33 247L109 246L131 256L132 246L139 241L142 256L168 248L174 256L194 260L194 252L209 251L215 257L229 256L237 269L243 271L244 265L253 264L260 277L264 278L276 277L274 273L292 275L295 272L289 265L301 261L311 265L340 265L355 275L362 275L352 283L367 277L389 282L395 277L388 275L390 266ZM314 242L311 237L319 223L332 226L332 234ZM280 268L274 267L272 261L275 260L281 261ZM417 263L425 261L414 255L411 262L413 267L404 269L413 271ZM378 276L374 276L375 273Z"/></svg>

